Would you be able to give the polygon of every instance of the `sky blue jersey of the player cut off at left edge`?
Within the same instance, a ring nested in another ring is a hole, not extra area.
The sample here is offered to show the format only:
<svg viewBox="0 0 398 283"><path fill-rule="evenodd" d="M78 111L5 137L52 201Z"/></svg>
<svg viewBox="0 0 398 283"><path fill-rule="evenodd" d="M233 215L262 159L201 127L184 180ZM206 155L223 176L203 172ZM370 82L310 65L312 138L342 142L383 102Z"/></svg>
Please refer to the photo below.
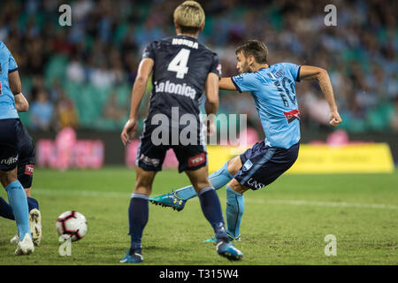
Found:
<svg viewBox="0 0 398 283"><path fill-rule="evenodd" d="M4 42L0 42L0 119L18 119L15 99L10 89L8 74L18 70L18 65Z"/></svg>

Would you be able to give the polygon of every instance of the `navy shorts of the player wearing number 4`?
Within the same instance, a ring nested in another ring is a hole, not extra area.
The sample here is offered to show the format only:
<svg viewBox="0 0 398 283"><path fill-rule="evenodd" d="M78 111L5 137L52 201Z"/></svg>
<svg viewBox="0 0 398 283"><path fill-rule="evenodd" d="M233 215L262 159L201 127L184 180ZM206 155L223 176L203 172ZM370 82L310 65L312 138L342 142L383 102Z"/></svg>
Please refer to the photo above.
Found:
<svg viewBox="0 0 398 283"><path fill-rule="evenodd" d="M151 140L154 126L145 126L140 136L140 145L137 149L135 164L145 171L161 171L168 149L174 151L175 157L179 161L179 172L193 171L202 168L207 164L206 147L201 143L201 134L197 134L197 144L195 145L155 145Z"/></svg>

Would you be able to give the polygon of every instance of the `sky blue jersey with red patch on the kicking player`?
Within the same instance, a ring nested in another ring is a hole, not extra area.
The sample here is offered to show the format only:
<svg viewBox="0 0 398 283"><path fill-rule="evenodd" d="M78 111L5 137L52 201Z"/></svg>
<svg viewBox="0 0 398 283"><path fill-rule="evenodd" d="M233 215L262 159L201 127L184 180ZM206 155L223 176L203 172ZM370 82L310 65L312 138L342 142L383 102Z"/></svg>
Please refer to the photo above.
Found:
<svg viewBox="0 0 398 283"><path fill-rule="evenodd" d="M300 67L278 63L231 78L239 92L248 91L253 96L268 146L288 149L300 141L300 112L295 97Z"/></svg>

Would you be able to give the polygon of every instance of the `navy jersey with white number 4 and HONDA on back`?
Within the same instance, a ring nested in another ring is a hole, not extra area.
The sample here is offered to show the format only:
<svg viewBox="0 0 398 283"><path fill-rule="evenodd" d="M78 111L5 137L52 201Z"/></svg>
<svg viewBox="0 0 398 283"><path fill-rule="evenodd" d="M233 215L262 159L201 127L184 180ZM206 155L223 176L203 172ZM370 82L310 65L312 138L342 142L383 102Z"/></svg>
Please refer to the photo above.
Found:
<svg viewBox="0 0 398 283"><path fill-rule="evenodd" d="M178 119L186 113L198 117L208 74L221 75L217 54L194 37L177 35L149 43L142 58L155 61L149 118L157 113L177 118L172 107L178 107Z"/></svg>

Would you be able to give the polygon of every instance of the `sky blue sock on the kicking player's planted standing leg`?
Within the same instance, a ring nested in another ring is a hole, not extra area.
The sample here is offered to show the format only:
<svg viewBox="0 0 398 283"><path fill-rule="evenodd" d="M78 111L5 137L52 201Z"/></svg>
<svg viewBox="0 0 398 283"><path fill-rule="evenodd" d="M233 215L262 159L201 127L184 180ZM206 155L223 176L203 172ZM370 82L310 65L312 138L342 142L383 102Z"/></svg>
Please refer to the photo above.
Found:
<svg viewBox="0 0 398 283"><path fill-rule="evenodd" d="M226 233L233 238L241 234L241 217L244 209L243 195L226 186Z"/></svg>

